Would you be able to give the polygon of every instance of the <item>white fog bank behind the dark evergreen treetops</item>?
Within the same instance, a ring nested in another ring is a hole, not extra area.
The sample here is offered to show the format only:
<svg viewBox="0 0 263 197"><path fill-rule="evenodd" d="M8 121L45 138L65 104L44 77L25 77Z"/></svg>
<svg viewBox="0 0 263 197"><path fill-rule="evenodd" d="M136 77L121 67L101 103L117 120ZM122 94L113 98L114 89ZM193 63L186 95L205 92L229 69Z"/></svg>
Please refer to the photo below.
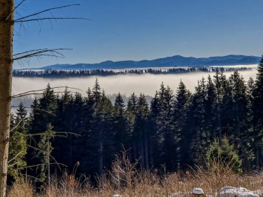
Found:
<svg viewBox="0 0 263 197"><path fill-rule="evenodd" d="M246 66L248 67L248 66ZM246 81L249 77L256 77L255 65L252 66L251 71L239 71ZM233 72L226 72L229 77ZM120 92L123 95L130 95L131 93L145 93L145 95L153 96L161 85L170 86L176 90L180 80L182 80L190 91L194 91L194 86L197 85L197 80L201 77L207 78L208 75L214 73L184 73L184 74L143 74L143 75L112 75L107 77L91 76L91 77L69 77L69 78L42 78L42 77L13 77L12 93L24 93L26 91L39 90L45 88L49 83L52 87L55 86L69 86L73 88L80 88L82 95L86 95L89 87L92 88L96 77L100 82L100 86L106 91L107 94L114 94ZM60 88L59 91L64 91Z"/></svg>

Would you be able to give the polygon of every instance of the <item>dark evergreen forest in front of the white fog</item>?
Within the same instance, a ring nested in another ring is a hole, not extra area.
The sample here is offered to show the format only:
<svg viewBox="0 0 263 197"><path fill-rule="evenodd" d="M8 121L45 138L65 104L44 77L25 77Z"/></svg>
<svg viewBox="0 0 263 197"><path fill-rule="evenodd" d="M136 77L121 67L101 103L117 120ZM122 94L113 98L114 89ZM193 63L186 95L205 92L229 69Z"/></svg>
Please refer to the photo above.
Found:
<svg viewBox="0 0 263 197"><path fill-rule="evenodd" d="M245 82L238 71L227 78L217 69L194 93L183 82L175 91L162 83L150 104L143 93L127 105L118 93L111 103L98 79L87 97L68 89L57 95L48 84L29 114L19 104L12 115L10 180L26 175L43 183L77 167L102 176L124 149L143 169L185 170L205 166L211 144L226 139L244 171L262 167L263 57L257 71Z"/></svg>

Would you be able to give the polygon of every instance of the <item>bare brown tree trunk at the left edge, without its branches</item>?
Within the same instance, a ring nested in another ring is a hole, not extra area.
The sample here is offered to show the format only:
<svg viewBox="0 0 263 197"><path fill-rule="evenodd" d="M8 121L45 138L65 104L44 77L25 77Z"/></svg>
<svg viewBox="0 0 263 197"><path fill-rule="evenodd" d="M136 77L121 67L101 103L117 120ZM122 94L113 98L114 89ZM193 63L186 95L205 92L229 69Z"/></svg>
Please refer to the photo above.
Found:
<svg viewBox="0 0 263 197"><path fill-rule="evenodd" d="M0 197L6 196L12 88L14 0L0 0Z"/></svg>

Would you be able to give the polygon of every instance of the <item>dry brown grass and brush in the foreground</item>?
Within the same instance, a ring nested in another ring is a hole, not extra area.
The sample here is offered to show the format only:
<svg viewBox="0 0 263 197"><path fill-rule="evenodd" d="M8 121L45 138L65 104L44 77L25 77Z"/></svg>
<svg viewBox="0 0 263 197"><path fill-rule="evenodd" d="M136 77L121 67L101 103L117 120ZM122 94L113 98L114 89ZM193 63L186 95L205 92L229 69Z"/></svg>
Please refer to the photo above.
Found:
<svg viewBox="0 0 263 197"><path fill-rule="evenodd" d="M112 171L98 178L98 187L78 181L74 176L64 175L60 180L53 178L40 197L165 197L190 196L194 187L201 187L205 194L217 196L221 187L246 187L252 191L263 191L263 173L237 175L227 165L211 162L206 168L166 174L141 171L131 164L126 156L114 162ZM9 197L33 196L32 187L24 182L13 185ZM28 195L30 194L30 195ZM35 195L37 196L37 195Z"/></svg>

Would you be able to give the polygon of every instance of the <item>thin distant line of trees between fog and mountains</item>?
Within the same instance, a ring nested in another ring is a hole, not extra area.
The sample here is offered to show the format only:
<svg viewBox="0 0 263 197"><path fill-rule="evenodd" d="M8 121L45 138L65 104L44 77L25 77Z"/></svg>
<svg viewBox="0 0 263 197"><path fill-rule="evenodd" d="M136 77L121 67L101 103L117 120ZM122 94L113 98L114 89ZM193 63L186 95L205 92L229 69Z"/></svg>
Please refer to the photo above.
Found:
<svg viewBox="0 0 263 197"><path fill-rule="evenodd" d="M251 68L247 67L240 67L240 68L215 68L209 66L203 67L185 67L185 68L138 68L138 69L131 69L131 70L105 70L105 69L96 69L96 70L73 70L73 71L63 71L63 70L50 70L46 69L44 71L19 71L15 70L12 71L12 75L14 77L81 77L81 76L109 76L109 75L124 75L124 74L174 74L174 73L191 73L191 72L215 72L217 69L220 71L248 71Z"/></svg>

